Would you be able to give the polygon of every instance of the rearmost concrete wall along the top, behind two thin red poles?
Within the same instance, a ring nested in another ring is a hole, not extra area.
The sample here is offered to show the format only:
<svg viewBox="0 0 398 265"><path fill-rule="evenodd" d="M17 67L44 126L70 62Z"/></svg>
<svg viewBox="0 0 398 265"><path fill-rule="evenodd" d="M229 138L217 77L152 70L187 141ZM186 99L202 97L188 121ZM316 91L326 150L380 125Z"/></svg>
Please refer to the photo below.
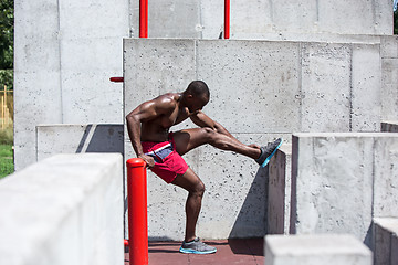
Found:
<svg viewBox="0 0 398 265"><path fill-rule="evenodd" d="M132 36L138 36L139 1L130 0ZM391 0L247 0L231 2L232 39L296 34L392 34ZM149 38L218 39L223 1L149 1Z"/></svg>

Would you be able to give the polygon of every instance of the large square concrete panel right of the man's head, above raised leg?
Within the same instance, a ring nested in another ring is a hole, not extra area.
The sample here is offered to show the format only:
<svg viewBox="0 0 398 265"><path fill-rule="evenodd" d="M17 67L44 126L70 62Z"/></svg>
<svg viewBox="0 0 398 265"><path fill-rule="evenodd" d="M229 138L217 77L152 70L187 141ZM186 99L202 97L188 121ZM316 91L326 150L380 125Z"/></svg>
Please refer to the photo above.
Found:
<svg viewBox="0 0 398 265"><path fill-rule="evenodd" d="M198 41L197 73L211 92L203 110L231 131L300 128L295 43Z"/></svg>

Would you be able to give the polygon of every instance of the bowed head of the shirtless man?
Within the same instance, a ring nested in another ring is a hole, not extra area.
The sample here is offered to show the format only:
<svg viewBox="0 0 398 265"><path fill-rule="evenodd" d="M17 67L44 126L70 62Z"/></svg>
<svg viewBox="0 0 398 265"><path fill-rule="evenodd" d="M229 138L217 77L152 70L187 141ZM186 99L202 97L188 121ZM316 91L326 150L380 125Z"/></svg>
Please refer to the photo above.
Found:
<svg viewBox="0 0 398 265"><path fill-rule="evenodd" d="M210 91L202 81L191 82L184 92L184 98L190 113L202 109L210 99Z"/></svg>

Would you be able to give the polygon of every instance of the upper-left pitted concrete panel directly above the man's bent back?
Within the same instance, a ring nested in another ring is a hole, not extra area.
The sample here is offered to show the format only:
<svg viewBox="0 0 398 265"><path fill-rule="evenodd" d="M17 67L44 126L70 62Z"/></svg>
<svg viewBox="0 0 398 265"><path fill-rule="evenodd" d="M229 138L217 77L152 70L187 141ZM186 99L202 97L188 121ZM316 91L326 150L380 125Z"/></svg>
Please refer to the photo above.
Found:
<svg viewBox="0 0 398 265"><path fill-rule="evenodd" d="M195 41L124 40L124 113L196 80ZM128 135L126 134L126 139Z"/></svg>

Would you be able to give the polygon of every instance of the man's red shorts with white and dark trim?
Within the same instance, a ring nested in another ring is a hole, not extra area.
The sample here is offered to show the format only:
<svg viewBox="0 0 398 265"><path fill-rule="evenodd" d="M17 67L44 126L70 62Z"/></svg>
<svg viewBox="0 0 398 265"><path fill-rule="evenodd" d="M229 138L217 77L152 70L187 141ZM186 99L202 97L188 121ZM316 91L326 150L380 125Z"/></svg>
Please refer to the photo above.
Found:
<svg viewBox="0 0 398 265"><path fill-rule="evenodd" d="M184 174L187 171L188 165L176 151L172 132L169 134L168 141L143 141L142 145L145 155L155 159L155 167L150 170L167 183L171 183L177 174Z"/></svg>

